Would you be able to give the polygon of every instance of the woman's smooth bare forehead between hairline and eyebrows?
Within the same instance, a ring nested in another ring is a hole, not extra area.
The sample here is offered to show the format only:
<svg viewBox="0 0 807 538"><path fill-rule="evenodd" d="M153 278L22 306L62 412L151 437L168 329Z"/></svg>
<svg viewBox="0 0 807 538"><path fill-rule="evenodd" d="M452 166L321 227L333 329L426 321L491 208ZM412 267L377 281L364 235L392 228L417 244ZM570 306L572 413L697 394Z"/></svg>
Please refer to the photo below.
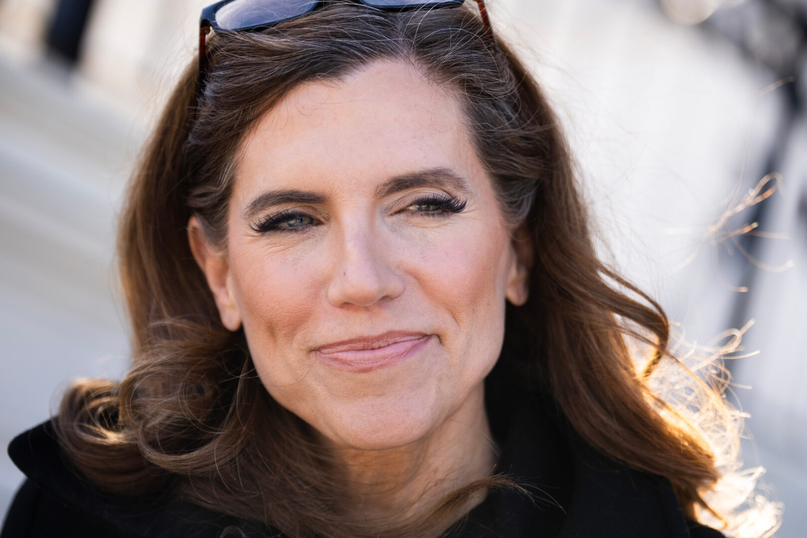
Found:
<svg viewBox="0 0 807 538"><path fill-rule="evenodd" d="M245 140L236 179L248 191L266 181L385 181L414 169L470 173L469 160L454 95L408 63L385 61L292 90Z"/></svg>

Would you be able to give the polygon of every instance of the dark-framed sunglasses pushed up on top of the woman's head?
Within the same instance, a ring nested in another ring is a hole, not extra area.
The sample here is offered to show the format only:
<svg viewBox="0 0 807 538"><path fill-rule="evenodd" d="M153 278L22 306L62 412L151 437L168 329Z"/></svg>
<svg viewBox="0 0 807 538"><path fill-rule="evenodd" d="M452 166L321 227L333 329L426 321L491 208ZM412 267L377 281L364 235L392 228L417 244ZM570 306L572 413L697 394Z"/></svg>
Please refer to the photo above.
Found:
<svg viewBox="0 0 807 538"><path fill-rule="evenodd" d="M365 6L386 11L434 9L437 7L460 6L465 0L353 0ZM494 40L491 20L487 15L484 0L479 4L479 15L489 39ZM220 0L202 10L199 19L199 75L196 78L196 93L201 93L203 79L207 71L207 34L227 31L249 31L270 27L284 20L296 19L311 13L326 4L328 0Z"/></svg>

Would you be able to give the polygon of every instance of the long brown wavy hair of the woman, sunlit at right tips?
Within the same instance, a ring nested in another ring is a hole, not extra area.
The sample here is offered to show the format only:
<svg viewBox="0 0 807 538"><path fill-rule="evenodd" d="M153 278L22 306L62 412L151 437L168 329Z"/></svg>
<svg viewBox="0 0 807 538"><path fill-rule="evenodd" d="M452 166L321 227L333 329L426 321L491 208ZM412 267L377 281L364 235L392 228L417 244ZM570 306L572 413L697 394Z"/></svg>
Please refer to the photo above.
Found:
<svg viewBox="0 0 807 538"><path fill-rule="evenodd" d="M105 490L170 488L287 536L425 536L470 495L510 484L500 476L475 482L396 525L351 519L339 501L339 466L261 385L243 332L220 322L190 252L191 215L211 244L226 246L232 171L257 119L297 85L338 80L376 60L409 62L454 92L501 210L529 231L529 300L508 305L504 341L519 350L508 360L583 440L667 478L684 515L696 519L720 462L702 421L654 386L659 365L680 365L667 316L596 255L558 119L525 65L488 39L466 6L390 13L335 2L266 30L216 36L199 97L195 63L188 66L119 224L132 369L122 382L77 382L65 394L57 427L69 457ZM645 346L641 357L631 342ZM690 381L715 422L726 423L719 387Z"/></svg>

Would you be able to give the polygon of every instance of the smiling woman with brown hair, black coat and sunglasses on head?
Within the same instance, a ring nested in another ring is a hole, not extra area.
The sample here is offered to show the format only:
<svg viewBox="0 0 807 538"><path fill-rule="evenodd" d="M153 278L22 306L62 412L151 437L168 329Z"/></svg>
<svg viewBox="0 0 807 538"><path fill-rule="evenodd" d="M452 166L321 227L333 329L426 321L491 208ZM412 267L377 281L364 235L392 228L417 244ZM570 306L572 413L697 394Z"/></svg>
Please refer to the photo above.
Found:
<svg viewBox="0 0 807 538"><path fill-rule="evenodd" d="M12 443L7 536L732 528L705 498L734 467L671 402L733 439L730 411L664 392L667 318L598 261L478 3L203 11L121 219L132 371Z"/></svg>

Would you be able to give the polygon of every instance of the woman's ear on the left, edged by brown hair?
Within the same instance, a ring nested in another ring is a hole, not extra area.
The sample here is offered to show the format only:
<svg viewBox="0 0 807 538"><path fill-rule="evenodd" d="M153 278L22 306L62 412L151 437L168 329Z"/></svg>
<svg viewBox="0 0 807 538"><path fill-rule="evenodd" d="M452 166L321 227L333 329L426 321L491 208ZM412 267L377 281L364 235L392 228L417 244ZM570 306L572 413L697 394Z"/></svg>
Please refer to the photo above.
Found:
<svg viewBox="0 0 807 538"><path fill-rule="evenodd" d="M227 256L207 243L196 215L188 220L188 244L199 269L202 269L207 278L207 286L213 293L221 323L229 331L237 331L241 326L241 314L233 293L232 273Z"/></svg>

